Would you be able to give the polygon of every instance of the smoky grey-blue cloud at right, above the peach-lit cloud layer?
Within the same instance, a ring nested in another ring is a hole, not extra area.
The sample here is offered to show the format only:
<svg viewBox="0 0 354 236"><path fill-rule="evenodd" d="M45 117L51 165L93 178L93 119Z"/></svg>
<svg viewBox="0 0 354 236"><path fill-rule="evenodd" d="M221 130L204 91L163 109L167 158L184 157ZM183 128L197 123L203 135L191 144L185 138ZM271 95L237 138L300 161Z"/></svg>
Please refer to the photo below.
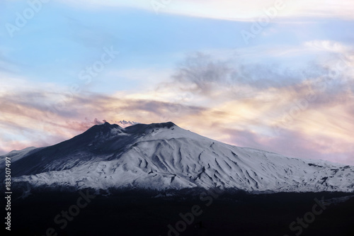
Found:
<svg viewBox="0 0 354 236"><path fill-rule="evenodd" d="M301 99L304 92L314 89L324 89L322 94L341 96L345 87L353 82L353 47L331 41L311 41L292 51L307 51L316 58L306 62L308 55L305 54L299 58L304 63L297 65L293 64L294 55L277 55L277 59L272 60L277 52L260 47L247 52L235 50L232 55L224 53L224 56L212 52L191 53L178 64L173 81L162 87L166 90L166 86L173 86L181 91L212 97L214 101L247 99L260 94L264 99L272 90L273 97L278 99L275 90L287 88L292 90L291 93L299 94ZM254 57L259 59L254 61ZM293 60L287 63L284 57Z"/></svg>

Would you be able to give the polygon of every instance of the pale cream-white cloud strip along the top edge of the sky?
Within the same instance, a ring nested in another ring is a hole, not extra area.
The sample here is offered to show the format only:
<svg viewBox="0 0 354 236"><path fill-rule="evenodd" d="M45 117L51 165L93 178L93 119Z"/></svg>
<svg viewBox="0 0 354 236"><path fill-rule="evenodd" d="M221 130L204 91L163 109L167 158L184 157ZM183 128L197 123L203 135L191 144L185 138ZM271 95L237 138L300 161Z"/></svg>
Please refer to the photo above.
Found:
<svg viewBox="0 0 354 236"><path fill-rule="evenodd" d="M145 1L145 0L62 0L65 4L85 6L91 10L112 7L132 7L185 16L218 18L229 21L255 21L261 16L273 15L276 19L289 18L343 18L353 19L353 1L320 0L220 0L220 1ZM273 18L271 16L271 18Z"/></svg>

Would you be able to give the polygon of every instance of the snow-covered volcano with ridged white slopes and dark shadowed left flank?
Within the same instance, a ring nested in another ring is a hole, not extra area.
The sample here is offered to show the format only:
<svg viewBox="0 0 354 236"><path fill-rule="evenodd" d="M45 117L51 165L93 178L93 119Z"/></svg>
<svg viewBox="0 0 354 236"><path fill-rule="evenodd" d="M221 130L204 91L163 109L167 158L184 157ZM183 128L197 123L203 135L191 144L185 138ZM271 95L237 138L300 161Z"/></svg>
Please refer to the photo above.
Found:
<svg viewBox="0 0 354 236"><path fill-rule="evenodd" d="M31 186L294 192L354 189L352 166L235 147L171 122L127 128L94 125L70 140L13 152L11 157L13 182Z"/></svg>

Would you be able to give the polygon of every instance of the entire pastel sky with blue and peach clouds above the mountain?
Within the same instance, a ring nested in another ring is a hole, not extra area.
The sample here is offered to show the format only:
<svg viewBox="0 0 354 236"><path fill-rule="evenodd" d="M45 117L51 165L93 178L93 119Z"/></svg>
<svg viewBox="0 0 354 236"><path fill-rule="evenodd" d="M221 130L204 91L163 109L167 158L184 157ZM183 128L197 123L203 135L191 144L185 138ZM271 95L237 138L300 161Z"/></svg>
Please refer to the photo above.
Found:
<svg viewBox="0 0 354 236"><path fill-rule="evenodd" d="M172 121L354 165L354 2L0 1L0 154Z"/></svg>

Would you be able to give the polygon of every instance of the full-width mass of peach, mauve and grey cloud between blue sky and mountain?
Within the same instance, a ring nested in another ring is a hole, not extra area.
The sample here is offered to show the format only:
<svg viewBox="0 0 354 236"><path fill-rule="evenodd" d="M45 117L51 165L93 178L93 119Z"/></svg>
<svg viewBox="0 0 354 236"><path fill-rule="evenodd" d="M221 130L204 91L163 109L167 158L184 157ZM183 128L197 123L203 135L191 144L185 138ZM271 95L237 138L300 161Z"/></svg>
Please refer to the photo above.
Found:
<svg viewBox="0 0 354 236"><path fill-rule="evenodd" d="M66 98L64 88L53 89L51 84L22 87L16 86L21 79L4 80L0 149L52 145L102 120L172 120L233 145L354 164L352 48L317 41L302 47L321 52L321 57L291 73L284 65L235 64L229 56L198 52L188 55L171 78L154 89L111 95L81 91ZM271 52L262 53L267 57ZM333 62L341 62L340 67Z"/></svg>

